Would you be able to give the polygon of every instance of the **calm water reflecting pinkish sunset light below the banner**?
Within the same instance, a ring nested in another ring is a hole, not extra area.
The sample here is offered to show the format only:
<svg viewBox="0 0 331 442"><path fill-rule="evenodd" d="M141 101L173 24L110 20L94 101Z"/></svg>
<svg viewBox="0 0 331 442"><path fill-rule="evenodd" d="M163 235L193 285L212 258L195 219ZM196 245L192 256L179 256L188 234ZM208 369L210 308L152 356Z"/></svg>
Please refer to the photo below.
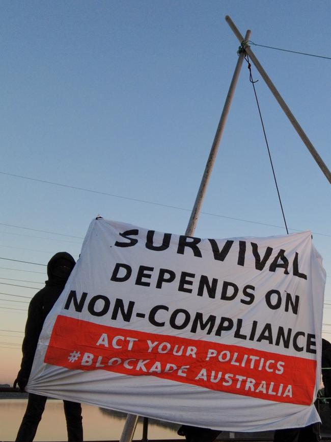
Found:
<svg viewBox="0 0 331 442"><path fill-rule="evenodd" d="M15 440L26 408L26 399L0 399L0 441ZM84 440L119 440L125 424L125 416L109 413L99 407L82 404ZM167 425L167 424L164 424ZM142 423L137 424L134 439L141 439ZM149 439L176 439L175 429L149 423ZM48 399L42 420L34 439L40 441L68 440L63 402ZM184 440L184 439L183 439Z"/></svg>

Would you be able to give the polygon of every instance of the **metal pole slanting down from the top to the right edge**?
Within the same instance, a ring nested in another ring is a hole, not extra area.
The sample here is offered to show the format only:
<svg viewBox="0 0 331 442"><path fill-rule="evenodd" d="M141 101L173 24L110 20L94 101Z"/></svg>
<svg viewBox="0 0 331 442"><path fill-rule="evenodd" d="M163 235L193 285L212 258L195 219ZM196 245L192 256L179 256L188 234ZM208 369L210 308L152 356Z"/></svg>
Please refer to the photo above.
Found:
<svg viewBox="0 0 331 442"><path fill-rule="evenodd" d="M243 39L242 35L240 34L240 32L238 31L238 29L236 28L234 22L231 20L231 18L227 15L225 17L226 21L228 22L230 28L232 29L233 33L235 34L235 36L238 38L238 40L240 41L240 43L242 41L247 41L247 38L245 37ZM294 127L294 129L296 130L296 132L298 133L299 137L301 138L302 141L304 141L304 143L306 144L309 152L312 154L312 156L314 157L315 161L317 162L317 164L319 165L320 169L322 170L323 174L325 175L325 177L328 179L328 181L331 183L331 173L329 171L329 169L327 168L326 164L324 163L324 161L322 160L322 158L319 156L318 152L316 151L316 149L314 148L313 144L311 143L310 139L308 138L308 136L305 134L304 130L301 128L301 126L299 125L299 123L297 122L297 120L295 119L294 115L292 114L292 112L290 111L289 107L287 106L287 104L285 103L285 101L283 100L281 94L279 93L279 91L275 88L274 84L272 83L272 81L270 80L270 78L268 77L267 73L265 72L265 70L263 69L263 67L261 66L261 64L259 63L258 59L256 58L256 56L253 54L253 51L250 47L249 44L245 45L245 51L246 53L249 55L249 57L251 58L252 62L254 63L255 67L257 68L257 70L260 72L261 77L263 78L263 80L266 82L268 88L271 90L273 96L275 97L275 99L278 101L279 105L281 106L281 108L283 109L283 111L285 112L286 116L288 117L288 119L291 121L292 126Z"/></svg>

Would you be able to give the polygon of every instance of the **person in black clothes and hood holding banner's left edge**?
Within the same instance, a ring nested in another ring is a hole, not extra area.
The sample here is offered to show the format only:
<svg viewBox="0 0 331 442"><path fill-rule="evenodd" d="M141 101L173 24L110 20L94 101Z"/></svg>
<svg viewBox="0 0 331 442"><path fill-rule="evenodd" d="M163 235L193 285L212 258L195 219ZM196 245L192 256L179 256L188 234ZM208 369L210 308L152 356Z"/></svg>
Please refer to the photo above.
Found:
<svg viewBox="0 0 331 442"><path fill-rule="evenodd" d="M24 391L29 380L39 335L45 318L64 289L74 265L75 260L69 253L59 252L55 254L47 264L48 281L45 282L45 287L38 291L30 302L22 344L21 368L14 381L14 387L18 385L21 391ZM26 411L18 430L16 442L33 441L46 400L46 396L29 394L29 400L27 401ZM81 406L76 402L63 401L63 403L68 441L82 442Z"/></svg>

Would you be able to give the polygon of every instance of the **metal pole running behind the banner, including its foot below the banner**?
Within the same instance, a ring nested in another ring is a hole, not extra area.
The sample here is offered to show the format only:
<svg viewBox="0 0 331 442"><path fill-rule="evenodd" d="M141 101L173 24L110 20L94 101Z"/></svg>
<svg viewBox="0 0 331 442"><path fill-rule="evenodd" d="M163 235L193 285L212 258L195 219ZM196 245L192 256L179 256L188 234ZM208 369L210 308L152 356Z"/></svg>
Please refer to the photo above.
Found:
<svg viewBox="0 0 331 442"><path fill-rule="evenodd" d="M251 37L251 31L247 30L246 35L245 35L245 39L249 40L250 37ZM196 229L197 221L198 221L199 214L201 211L202 201L203 201L203 198L206 193L210 174L211 174L211 171L212 171L212 168L213 168L213 165L215 162L215 158L217 155L219 142L220 142L220 139L222 138L222 134L223 134L224 127L225 127L225 122L226 122L227 116L229 114L230 105L232 103L234 90L237 85L237 81L238 81L240 69L242 66L243 58L244 58L244 54L240 54L237 64L236 64L236 67L235 67L233 77L232 77L232 81L231 81L231 84L229 87L229 91L228 91L228 95L227 95L227 98L225 101L223 112L222 112L222 115L220 116L220 120L219 120L219 124L218 124L217 130L216 130L214 141L211 146L211 150L209 153L206 168L205 168L205 171L204 171L204 174L203 174L203 177L201 180L200 188L199 188L199 191L197 194L196 202L195 202L194 207L192 209L191 216L190 216L190 219L189 219L189 222L187 225L187 229L185 232L185 235L187 235L187 236L191 236L192 234L194 234L194 231ZM132 442L134 430L137 425L137 420L138 420L138 416L136 416L134 414L127 415L120 442Z"/></svg>

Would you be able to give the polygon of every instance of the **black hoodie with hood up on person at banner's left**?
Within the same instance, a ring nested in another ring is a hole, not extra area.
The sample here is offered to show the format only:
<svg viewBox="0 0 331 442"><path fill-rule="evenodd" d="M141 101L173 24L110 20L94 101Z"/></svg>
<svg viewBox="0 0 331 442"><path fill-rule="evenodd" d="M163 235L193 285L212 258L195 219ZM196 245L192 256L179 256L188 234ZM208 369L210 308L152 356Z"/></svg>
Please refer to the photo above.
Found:
<svg viewBox="0 0 331 442"><path fill-rule="evenodd" d="M72 268L75 265L75 260L67 252L56 253L47 264L48 281L45 281L45 287L38 291L32 298L27 313L25 335L22 343L23 356L21 369L17 375L20 386L24 383L26 384L29 379L39 335L45 318L58 300L70 274L68 273L65 276L57 276L54 274L54 268L59 264L59 260L69 261L68 264L71 265Z"/></svg>

